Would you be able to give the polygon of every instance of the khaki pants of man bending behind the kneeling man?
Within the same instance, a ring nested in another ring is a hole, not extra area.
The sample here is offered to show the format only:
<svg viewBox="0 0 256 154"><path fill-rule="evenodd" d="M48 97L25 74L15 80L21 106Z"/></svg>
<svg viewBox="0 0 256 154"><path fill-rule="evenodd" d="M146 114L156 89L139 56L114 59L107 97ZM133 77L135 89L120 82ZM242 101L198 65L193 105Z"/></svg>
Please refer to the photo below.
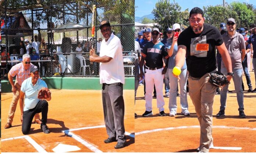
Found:
<svg viewBox="0 0 256 154"><path fill-rule="evenodd" d="M21 91L21 86L19 86L17 80L14 83L15 88L17 89L16 94L13 94L13 100L11 101L11 105L10 105L10 109L9 109L9 113L8 113L8 118L7 118L7 123L13 123L13 117L14 117L14 113L17 107L17 103L19 100L19 93ZM40 119L39 113L35 114L35 120Z"/></svg>

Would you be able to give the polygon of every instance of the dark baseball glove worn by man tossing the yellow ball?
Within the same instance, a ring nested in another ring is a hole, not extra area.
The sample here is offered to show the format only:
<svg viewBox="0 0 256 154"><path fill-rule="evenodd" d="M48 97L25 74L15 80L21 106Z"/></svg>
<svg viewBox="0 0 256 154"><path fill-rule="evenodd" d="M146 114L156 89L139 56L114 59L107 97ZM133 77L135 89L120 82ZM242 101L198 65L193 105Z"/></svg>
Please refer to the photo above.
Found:
<svg viewBox="0 0 256 154"><path fill-rule="evenodd" d="M211 84L213 84L213 86L221 87L221 88L224 84L230 84L227 77L224 74L222 74L221 72L218 72L218 71L216 71L215 73L211 73L210 78L209 78L208 81Z"/></svg>

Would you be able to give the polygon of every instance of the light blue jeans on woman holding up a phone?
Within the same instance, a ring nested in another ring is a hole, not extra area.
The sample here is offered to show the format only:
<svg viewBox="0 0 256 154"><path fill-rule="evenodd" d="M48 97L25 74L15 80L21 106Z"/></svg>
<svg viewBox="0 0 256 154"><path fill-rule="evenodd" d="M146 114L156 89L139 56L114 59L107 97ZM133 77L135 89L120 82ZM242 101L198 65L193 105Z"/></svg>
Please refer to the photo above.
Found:
<svg viewBox="0 0 256 154"><path fill-rule="evenodd" d="M177 113L177 84L178 79L173 76L173 69L168 68L168 75L170 79L170 98L169 98L169 110L170 112ZM179 75L179 87L180 87L180 103L181 112L184 113L188 111L188 99L186 93L186 83L188 80L187 69L181 69L181 74Z"/></svg>

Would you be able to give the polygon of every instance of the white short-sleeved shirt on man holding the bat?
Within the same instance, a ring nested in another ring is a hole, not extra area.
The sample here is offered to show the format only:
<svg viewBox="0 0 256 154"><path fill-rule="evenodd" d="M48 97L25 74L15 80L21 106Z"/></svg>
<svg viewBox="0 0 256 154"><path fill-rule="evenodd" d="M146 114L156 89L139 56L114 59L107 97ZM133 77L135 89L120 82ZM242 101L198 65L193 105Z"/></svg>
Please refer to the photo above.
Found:
<svg viewBox="0 0 256 154"><path fill-rule="evenodd" d="M111 34L106 42L102 40L100 45L100 57L108 56L111 59L108 63L100 63L100 83L118 83L124 84L124 62L122 57L122 45L120 39Z"/></svg>

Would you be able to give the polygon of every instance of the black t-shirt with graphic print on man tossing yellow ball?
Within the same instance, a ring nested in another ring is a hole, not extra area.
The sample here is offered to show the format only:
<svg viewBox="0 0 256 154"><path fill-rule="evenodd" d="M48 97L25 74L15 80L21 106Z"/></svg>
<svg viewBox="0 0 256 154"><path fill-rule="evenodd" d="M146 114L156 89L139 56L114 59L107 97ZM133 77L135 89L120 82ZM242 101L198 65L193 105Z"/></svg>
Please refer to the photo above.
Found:
<svg viewBox="0 0 256 154"><path fill-rule="evenodd" d="M197 51L196 44L209 44L208 51ZM201 78L216 69L215 46L223 44L220 32L205 23L201 34L195 34L189 26L178 37L178 45L186 46L186 64L189 75Z"/></svg>

